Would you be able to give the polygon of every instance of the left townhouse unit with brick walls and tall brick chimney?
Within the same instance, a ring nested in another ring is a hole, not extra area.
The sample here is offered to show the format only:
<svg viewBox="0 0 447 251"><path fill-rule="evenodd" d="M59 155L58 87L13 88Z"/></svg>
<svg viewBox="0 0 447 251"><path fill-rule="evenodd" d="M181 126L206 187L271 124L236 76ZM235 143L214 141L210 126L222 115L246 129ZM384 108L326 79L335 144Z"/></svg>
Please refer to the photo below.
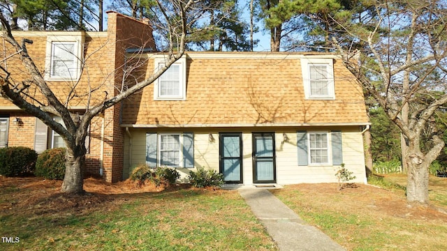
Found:
<svg viewBox="0 0 447 251"><path fill-rule="evenodd" d="M33 41L27 50L34 63L59 100L79 114L103 102L105 93L110 98L122 89L126 50L155 48L148 24L115 12L108 12L108 31L13 31L13 36L19 43L22 38ZM29 81L19 55L3 42L2 66L16 82ZM31 102L45 104L35 86L27 92ZM122 179L124 129L119 126L120 112L118 104L94 118L86 139L86 173L102 174L106 181ZM61 118L54 116L54 120ZM41 153L64 146L64 141L40 119L0 97L0 147L5 146L27 146Z"/></svg>

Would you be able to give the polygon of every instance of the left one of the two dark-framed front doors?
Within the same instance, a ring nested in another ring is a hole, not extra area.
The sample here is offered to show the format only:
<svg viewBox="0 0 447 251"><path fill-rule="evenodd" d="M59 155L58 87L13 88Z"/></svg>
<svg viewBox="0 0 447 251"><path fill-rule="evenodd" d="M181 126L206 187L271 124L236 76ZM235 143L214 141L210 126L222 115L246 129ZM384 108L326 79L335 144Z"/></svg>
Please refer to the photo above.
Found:
<svg viewBox="0 0 447 251"><path fill-rule="evenodd" d="M242 183L242 133L219 134L220 172L226 183Z"/></svg>

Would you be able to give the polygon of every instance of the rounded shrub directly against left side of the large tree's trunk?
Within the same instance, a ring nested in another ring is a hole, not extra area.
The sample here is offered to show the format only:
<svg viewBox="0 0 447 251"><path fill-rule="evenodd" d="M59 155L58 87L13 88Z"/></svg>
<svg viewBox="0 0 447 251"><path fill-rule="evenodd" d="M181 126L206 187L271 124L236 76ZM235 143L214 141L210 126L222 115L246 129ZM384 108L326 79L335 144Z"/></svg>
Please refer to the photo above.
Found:
<svg viewBox="0 0 447 251"><path fill-rule="evenodd" d="M37 158L34 175L47 179L63 180L65 176L65 151L64 148L43 151Z"/></svg>

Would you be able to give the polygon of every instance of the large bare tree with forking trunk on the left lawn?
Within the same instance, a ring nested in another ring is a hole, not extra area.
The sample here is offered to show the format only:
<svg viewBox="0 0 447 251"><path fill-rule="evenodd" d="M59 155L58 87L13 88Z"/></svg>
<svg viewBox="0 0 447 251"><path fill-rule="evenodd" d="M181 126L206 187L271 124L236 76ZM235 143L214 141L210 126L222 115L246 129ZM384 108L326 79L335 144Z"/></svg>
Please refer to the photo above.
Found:
<svg viewBox="0 0 447 251"><path fill-rule="evenodd" d="M6 64L9 58L20 57L20 61L29 76L29 79L21 80L20 77L12 75L8 68L0 66L0 94L3 98L8 98L14 105L20 107L24 112L41 119L43 123L64 139L67 151L66 174L61 187L62 192L74 194L82 194L83 192L86 155L85 138L87 137L87 128L91 119L104 112L105 109L116 105L118 102L154 82L172 63L184 54L184 43L191 27L191 22L197 22L198 20L198 16L195 15L198 12L195 9L198 3L199 1L196 0L156 1L156 7L154 6L153 10L159 14L159 20L156 20L158 23L153 25L157 25L159 28L163 27L168 35L166 36L167 53L164 66L158 68L156 72L146 79L136 82L128 88L117 88L119 91L116 94L105 93L102 102L87 105L87 109L85 109L82 115L75 114L68 108L66 99L69 97L61 98L55 94L55 90L52 89L54 85L45 80L43 71L36 66L37 64L28 54L27 44L32 43L32 41L24 38L21 43L17 42L11 32L10 23L3 13L0 13L0 21L4 31L3 39L15 50L13 54L6 57ZM194 18L190 18L191 16L194 16ZM115 75L115 73L110 73L110 75ZM39 90L43 94L43 100L38 100L37 103L36 100L31 101L30 98L33 98L29 96L29 90L31 89ZM75 89L69 95L73 96L74 92ZM98 94L95 93L94 95L97 96ZM88 96L85 98L90 99L92 97ZM54 121L51 114L60 116L64 124Z"/></svg>

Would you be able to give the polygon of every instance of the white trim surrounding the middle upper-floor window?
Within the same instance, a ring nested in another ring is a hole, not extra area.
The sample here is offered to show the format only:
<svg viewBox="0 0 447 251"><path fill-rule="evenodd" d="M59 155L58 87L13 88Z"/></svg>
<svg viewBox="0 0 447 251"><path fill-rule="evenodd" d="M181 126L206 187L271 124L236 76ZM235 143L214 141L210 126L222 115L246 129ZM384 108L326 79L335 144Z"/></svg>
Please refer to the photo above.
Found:
<svg viewBox="0 0 447 251"><path fill-rule="evenodd" d="M164 57L156 57L154 59L154 73L159 70L160 63L165 63ZM173 65L180 66L180 90L179 96L159 96L159 82L160 79L154 81L154 100L186 100L186 56L182 56L175 61Z"/></svg>

